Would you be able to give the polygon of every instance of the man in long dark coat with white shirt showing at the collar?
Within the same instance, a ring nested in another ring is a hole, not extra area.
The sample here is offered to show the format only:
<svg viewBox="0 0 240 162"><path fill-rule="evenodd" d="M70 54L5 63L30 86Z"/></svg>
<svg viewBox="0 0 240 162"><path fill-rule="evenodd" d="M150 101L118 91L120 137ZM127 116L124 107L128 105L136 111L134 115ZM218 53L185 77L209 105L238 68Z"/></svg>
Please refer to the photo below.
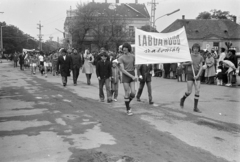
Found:
<svg viewBox="0 0 240 162"><path fill-rule="evenodd" d="M67 55L67 51L62 48L59 51L61 53L61 56L58 57L57 61L57 72L60 73L62 76L62 83L65 87L67 85L67 77L70 76L71 72L71 57Z"/></svg>

